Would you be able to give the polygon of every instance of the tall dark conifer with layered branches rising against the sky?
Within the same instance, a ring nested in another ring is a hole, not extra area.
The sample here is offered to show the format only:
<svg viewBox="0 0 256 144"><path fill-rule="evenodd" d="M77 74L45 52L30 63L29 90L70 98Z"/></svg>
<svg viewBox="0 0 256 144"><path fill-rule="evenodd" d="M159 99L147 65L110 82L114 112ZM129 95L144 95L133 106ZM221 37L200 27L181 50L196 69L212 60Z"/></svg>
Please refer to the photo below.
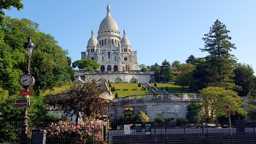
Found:
<svg viewBox="0 0 256 144"><path fill-rule="evenodd" d="M217 19L210 27L210 32L202 38L205 45L200 50L210 54L206 60L211 62L213 67L218 68L220 76L230 74L231 66L236 63L236 57L229 53L232 49L236 49L235 44L229 41L231 40L231 37L228 36L229 32L225 24Z"/></svg>

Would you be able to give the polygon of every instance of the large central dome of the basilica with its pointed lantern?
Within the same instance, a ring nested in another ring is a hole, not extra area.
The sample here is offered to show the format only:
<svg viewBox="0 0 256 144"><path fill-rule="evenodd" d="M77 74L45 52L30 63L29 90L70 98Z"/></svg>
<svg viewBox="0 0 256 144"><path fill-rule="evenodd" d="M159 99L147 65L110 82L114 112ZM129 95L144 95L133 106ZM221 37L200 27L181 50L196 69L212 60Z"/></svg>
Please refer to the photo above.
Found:
<svg viewBox="0 0 256 144"><path fill-rule="evenodd" d="M99 31L104 30L104 29L115 29L115 30L119 31L116 20L114 20L110 15L110 6L109 6L109 4L107 6L107 16L106 16L106 18L104 18L101 21Z"/></svg>

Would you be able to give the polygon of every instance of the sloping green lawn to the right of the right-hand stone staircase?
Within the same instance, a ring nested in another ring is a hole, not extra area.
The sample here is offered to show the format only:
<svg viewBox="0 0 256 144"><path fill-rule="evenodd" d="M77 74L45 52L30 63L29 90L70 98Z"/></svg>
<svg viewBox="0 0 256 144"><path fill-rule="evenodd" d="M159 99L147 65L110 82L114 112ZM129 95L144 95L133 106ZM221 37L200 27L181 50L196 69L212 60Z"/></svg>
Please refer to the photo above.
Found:
<svg viewBox="0 0 256 144"><path fill-rule="evenodd" d="M150 83L150 85L154 86L154 83ZM196 93L196 92L187 92L182 91L182 86L173 85L173 84L157 84L157 89L161 90L161 87L163 87L163 90L165 90L166 86L168 87L168 93L175 93L175 91L178 91L179 93ZM185 87L184 87L185 88Z"/></svg>

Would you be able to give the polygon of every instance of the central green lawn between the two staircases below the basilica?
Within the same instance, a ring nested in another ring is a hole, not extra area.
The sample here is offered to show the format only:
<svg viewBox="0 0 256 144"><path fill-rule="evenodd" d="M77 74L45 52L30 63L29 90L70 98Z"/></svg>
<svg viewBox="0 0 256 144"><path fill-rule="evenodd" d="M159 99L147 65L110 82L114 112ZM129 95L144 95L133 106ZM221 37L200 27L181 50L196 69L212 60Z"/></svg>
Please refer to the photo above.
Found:
<svg viewBox="0 0 256 144"><path fill-rule="evenodd" d="M137 94L152 94L151 91L141 90L142 87L138 87L136 83L111 83L111 86L115 89L120 89L120 91L113 92L113 95L118 93L118 97L125 97L128 95L137 95ZM111 89L111 88L110 88ZM123 89L128 89L128 91L123 91ZM132 91L132 89L138 89L137 91Z"/></svg>

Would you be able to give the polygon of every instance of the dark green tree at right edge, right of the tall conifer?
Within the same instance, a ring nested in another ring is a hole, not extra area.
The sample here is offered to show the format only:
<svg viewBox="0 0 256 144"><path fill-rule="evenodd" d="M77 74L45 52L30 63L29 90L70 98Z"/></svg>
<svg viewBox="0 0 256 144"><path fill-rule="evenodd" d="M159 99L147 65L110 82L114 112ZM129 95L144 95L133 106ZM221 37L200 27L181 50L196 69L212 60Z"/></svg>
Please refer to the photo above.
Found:
<svg viewBox="0 0 256 144"><path fill-rule="evenodd" d="M239 96L256 96L256 81L253 75L254 71L248 64L238 63L233 70L235 76L233 77L235 84L242 87L238 91Z"/></svg>

